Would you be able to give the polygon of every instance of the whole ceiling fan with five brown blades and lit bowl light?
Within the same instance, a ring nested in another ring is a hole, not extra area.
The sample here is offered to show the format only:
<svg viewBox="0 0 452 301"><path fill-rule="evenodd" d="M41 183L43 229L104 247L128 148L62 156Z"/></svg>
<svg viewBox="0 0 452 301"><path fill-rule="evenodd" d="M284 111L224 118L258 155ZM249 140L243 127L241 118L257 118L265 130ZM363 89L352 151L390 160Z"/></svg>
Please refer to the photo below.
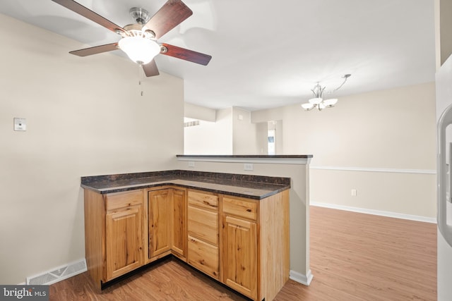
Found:
<svg viewBox="0 0 452 301"><path fill-rule="evenodd" d="M153 17L150 17L148 11L145 11L145 9L133 7L129 12L136 20L136 23L124 27L112 23L110 20L98 15L76 1L52 1L102 25L108 30L112 30L112 32L115 32L122 37L119 42L116 43L70 51L70 54L76 56L90 56L92 54L100 54L102 52L121 49L132 61L143 67L144 73L148 77L159 75L157 65L154 61L154 57L157 56L157 54L173 56L177 59L191 61L203 66L206 66L210 59L212 59L212 56L207 54L201 54L189 49L157 42L157 39L160 39L160 37L169 32L169 30L172 30L193 14L193 11L180 0L168 0Z"/></svg>

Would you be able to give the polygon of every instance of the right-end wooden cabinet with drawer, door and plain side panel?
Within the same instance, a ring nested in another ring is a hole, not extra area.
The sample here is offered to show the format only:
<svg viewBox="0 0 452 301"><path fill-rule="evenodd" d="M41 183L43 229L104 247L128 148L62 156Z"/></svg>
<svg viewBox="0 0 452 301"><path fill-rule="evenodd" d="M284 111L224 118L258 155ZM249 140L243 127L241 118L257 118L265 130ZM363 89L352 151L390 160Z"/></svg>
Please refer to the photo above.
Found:
<svg viewBox="0 0 452 301"><path fill-rule="evenodd" d="M273 300L289 279L289 192L258 201L222 195L223 283Z"/></svg>

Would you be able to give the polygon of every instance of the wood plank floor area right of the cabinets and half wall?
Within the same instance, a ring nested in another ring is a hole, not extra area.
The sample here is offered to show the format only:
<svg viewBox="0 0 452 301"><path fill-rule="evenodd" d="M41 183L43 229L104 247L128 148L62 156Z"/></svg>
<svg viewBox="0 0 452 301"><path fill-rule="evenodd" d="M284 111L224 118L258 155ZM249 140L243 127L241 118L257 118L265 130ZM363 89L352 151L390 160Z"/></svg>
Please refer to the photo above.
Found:
<svg viewBox="0 0 452 301"><path fill-rule="evenodd" d="M314 280L301 289L287 283L278 300L436 300L436 224L321 207L310 213Z"/></svg>

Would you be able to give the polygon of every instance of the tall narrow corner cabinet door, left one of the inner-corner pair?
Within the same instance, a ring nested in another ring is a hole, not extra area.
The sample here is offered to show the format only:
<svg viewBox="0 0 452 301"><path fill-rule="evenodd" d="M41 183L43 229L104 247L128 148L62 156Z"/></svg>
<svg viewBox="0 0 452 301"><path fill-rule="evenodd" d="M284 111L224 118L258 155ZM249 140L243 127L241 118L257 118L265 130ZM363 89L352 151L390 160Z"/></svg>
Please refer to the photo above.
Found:
<svg viewBox="0 0 452 301"><path fill-rule="evenodd" d="M170 190L148 193L149 258L171 250Z"/></svg>

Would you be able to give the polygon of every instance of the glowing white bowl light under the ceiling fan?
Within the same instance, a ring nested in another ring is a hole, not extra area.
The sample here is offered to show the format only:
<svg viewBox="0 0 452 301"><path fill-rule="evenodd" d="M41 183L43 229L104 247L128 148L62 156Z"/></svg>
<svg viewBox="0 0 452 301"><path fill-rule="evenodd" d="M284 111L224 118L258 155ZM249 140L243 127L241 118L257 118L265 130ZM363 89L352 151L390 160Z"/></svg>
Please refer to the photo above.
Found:
<svg viewBox="0 0 452 301"><path fill-rule="evenodd" d="M160 53L160 45L153 39L145 37L123 37L118 42L119 48L138 64L147 64Z"/></svg>

